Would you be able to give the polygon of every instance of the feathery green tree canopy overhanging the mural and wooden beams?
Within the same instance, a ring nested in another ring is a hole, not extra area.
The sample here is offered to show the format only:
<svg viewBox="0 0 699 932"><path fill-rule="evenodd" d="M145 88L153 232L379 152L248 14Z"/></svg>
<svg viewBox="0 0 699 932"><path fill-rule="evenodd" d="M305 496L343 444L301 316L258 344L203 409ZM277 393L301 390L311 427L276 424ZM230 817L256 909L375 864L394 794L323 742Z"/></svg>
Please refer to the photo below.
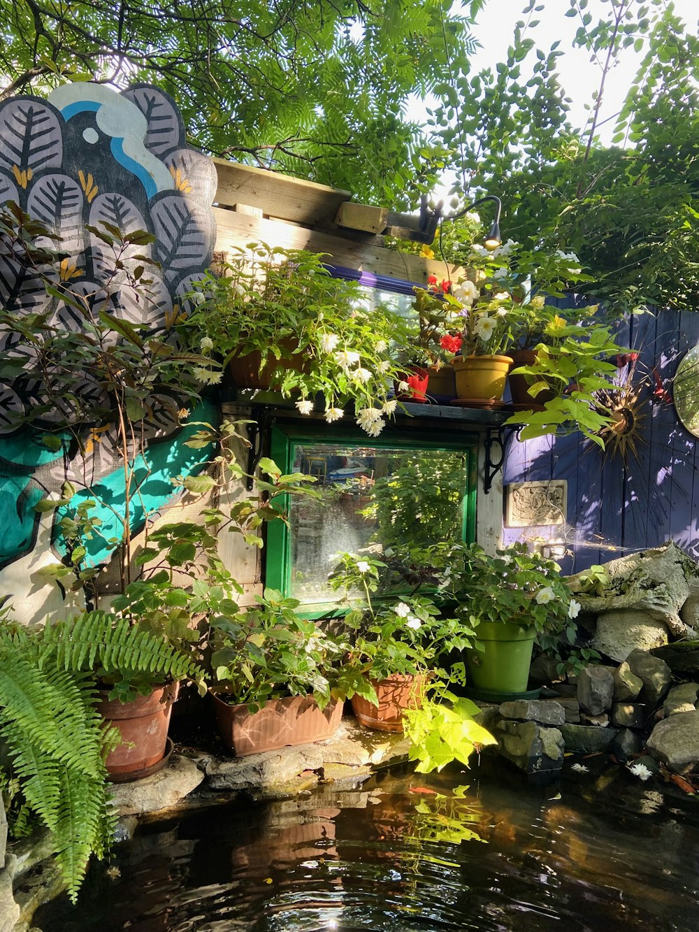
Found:
<svg viewBox="0 0 699 932"><path fill-rule="evenodd" d="M383 201L432 162L404 117L407 96L446 79L451 50L473 48L466 16L451 6L0 0L0 74L5 94L66 79L150 81L212 154Z"/></svg>

